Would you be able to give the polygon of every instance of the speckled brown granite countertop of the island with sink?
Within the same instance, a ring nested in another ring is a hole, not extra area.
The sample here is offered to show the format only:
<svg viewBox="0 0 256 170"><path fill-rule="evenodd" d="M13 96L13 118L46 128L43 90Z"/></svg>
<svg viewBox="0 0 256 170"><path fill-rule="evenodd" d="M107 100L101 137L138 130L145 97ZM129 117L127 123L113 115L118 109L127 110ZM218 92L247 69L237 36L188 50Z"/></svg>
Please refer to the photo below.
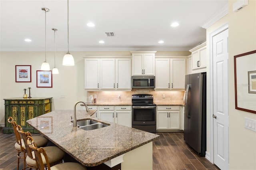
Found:
<svg viewBox="0 0 256 170"><path fill-rule="evenodd" d="M86 113L77 110L77 120L94 119L108 124L94 130L73 127L73 110L57 110L26 121L54 144L84 166L97 166L130 150L147 144L159 136L135 128L90 117L96 110Z"/></svg>

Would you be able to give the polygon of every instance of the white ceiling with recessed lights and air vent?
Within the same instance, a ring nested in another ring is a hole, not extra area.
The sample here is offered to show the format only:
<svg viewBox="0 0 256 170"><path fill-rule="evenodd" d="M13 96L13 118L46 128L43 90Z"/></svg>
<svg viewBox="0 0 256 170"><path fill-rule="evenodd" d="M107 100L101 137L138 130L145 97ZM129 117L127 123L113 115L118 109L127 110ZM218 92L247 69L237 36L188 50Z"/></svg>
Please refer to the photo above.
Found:
<svg viewBox="0 0 256 170"><path fill-rule="evenodd" d="M70 51L188 51L228 0L69 0ZM0 50L67 51L67 0L0 0ZM95 27L86 26L93 22ZM172 28L172 22L180 25ZM114 32L107 37L105 32ZM32 42L24 42L30 38ZM104 44L99 41L104 40ZM159 44L158 41L164 43Z"/></svg>

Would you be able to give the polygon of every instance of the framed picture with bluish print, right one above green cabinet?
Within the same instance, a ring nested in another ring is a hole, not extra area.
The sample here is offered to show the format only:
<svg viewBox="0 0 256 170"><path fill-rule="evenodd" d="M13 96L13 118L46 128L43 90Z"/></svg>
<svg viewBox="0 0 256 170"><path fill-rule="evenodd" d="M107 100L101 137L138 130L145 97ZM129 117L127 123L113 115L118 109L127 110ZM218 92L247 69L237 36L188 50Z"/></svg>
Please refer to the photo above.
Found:
<svg viewBox="0 0 256 170"><path fill-rule="evenodd" d="M52 87L52 71L36 71L36 87Z"/></svg>

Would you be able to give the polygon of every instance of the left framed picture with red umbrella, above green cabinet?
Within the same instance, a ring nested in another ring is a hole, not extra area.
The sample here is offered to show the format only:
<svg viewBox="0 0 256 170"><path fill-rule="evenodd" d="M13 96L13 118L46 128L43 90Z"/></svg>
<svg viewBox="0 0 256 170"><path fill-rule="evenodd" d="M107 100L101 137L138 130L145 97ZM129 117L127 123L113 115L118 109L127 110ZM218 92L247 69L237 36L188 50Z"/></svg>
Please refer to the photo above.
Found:
<svg viewBox="0 0 256 170"><path fill-rule="evenodd" d="M31 65L15 65L15 82L31 82Z"/></svg>

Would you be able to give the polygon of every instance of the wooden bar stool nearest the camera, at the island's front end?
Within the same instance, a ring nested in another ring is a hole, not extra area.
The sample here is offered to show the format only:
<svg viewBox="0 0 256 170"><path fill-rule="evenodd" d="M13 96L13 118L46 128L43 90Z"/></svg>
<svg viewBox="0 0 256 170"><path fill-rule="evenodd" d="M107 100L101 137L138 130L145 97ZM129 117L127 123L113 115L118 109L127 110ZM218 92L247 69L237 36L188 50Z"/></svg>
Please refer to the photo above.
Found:
<svg viewBox="0 0 256 170"><path fill-rule="evenodd" d="M39 170L44 170L44 168L48 170L87 170L85 166L76 162L65 162L50 166L47 151L44 148L37 148L31 136L27 137L27 144L30 149L34 150L36 164Z"/></svg>

